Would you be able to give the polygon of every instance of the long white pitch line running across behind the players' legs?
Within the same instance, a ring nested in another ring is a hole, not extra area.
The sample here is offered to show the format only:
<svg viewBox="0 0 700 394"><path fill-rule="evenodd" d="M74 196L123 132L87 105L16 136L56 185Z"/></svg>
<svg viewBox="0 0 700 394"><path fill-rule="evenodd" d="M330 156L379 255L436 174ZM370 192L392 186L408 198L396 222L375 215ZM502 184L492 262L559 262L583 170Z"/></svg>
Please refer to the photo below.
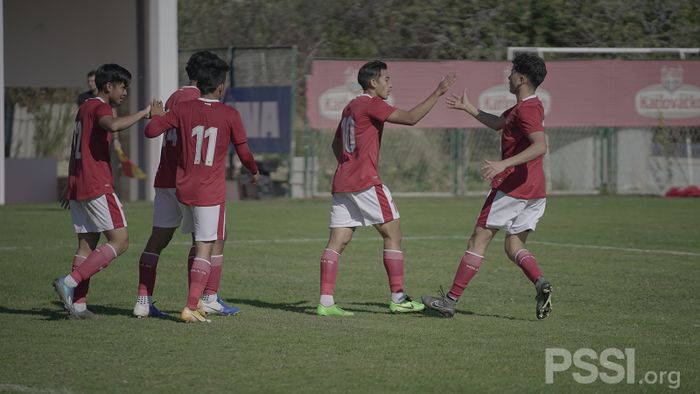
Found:
<svg viewBox="0 0 700 394"><path fill-rule="evenodd" d="M403 237L406 241L430 241L430 240L464 240L466 243L467 237L462 235L428 235L428 236L414 236L414 237ZM326 242L328 238L281 238L281 239L237 239L229 240L227 243L233 244L298 244L298 243L323 243ZM363 238L354 237L353 242L364 242L364 241L379 241L378 237L374 238ZM500 239L503 240L502 238ZM496 242L499 241L498 238L495 239ZM549 241L527 241L530 244L537 245L547 245L547 246L559 246L564 248L582 248L582 249L603 249L603 250L618 250L623 252L633 252L633 253L648 253L648 254L670 254L675 256L698 256L700 253L696 252L684 252L681 250L665 250L665 249L638 249L638 248L624 248L619 246L606 246L606 245L583 245L583 244L571 244L571 243L560 243L560 242L549 242ZM143 246L142 243L130 242L131 246ZM171 242L171 245L189 245L189 242ZM53 245L53 248L63 248L63 245ZM0 251L2 250L28 250L36 249L36 246L0 246Z"/></svg>

